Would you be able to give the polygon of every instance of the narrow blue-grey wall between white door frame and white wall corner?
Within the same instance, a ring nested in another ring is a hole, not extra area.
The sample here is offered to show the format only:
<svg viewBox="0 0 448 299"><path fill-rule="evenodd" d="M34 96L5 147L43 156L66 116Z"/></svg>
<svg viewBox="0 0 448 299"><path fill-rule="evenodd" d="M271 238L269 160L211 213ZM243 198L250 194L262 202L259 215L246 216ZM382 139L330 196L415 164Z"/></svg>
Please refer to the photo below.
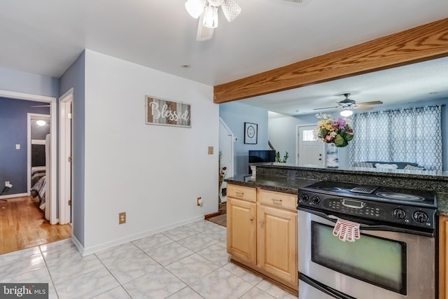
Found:
<svg viewBox="0 0 448 299"><path fill-rule="evenodd" d="M73 88L73 235L84 245L85 53L60 78L60 95Z"/></svg>

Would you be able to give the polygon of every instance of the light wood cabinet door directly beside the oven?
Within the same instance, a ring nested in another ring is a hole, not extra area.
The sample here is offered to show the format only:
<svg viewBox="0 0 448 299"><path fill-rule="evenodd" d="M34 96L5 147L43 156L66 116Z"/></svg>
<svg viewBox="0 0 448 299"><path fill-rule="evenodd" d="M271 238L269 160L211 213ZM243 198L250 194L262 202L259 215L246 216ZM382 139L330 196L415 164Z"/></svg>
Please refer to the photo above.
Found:
<svg viewBox="0 0 448 299"><path fill-rule="evenodd" d="M258 267L297 284L297 212L258 205Z"/></svg>

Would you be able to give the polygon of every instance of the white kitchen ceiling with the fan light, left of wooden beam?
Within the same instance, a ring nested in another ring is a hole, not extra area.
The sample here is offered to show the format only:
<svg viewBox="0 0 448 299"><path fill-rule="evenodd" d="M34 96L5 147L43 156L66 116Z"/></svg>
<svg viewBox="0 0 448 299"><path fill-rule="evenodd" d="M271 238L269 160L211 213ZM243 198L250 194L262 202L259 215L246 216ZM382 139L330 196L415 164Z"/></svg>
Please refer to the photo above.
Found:
<svg viewBox="0 0 448 299"><path fill-rule="evenodd" d="M448 15L447 0L236 1L239 17L220 11L213 39L196 41L186 0L1 0L0 67L59 77L88 48L218 85Z"/></svg>

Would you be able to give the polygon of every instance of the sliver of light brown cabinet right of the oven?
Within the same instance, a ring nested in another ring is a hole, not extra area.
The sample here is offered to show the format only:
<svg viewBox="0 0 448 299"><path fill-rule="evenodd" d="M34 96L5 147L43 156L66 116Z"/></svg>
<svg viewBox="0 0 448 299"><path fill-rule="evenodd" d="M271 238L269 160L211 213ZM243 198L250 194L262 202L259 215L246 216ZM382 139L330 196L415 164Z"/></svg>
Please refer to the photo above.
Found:
<svg viewBox="0 0 448 299"><path fill-rule="evenodd" d="M439 299L448 299L448 217L439 218Z"/></svg>

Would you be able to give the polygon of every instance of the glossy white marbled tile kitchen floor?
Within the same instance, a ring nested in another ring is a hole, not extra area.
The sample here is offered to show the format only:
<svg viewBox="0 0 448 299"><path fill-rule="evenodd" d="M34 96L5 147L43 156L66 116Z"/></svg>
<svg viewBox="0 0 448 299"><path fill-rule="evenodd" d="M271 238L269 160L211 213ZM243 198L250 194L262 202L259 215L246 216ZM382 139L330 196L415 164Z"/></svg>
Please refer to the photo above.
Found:
<svg viewBox="0 0 448 299"><path fill-rule="evenodd" d="M229 263L225 227L197 221L82 257L70 239L0 255L0 282L50 298L297 298Z"/></svg>

